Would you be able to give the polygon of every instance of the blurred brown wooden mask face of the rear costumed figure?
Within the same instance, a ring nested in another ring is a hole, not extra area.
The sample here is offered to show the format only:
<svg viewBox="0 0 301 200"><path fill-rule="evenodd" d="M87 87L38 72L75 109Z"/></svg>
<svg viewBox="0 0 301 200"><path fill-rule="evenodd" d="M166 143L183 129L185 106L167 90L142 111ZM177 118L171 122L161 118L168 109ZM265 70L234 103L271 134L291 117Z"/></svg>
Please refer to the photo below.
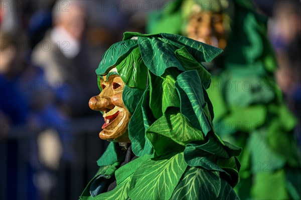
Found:
<svg viewBox="0 0 301 200"><path fill-rule="evenodd" d="M220 13L202 11L192 14L186 31L187 36L192 39L223 49L226 46L226 31Z"/></svg>

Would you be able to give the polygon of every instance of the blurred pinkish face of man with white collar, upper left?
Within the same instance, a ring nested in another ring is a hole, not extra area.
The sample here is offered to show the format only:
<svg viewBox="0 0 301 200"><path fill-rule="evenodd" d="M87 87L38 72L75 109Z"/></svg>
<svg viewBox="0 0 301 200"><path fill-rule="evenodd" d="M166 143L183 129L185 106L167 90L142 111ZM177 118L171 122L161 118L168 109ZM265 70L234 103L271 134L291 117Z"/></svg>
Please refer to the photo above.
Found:
<svg viewBox="0 0 301 200"><path fill-rule="evenodd" d="M81 40L86 25L86 11L79 4L71 4L68 9L55 23L62 26L74 39Z"/></svg>

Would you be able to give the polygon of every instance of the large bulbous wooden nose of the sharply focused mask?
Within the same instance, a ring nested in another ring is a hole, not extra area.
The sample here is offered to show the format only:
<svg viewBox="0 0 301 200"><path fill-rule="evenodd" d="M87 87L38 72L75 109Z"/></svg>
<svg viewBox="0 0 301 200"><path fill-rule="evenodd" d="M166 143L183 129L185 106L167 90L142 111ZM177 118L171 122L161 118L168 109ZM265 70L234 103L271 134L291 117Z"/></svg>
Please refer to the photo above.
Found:
<svg viewBox="0 0 301 200"><path fill-rule="evenodd" d="M114 108L109 97L92 96L89 100L89 107L93 110L106 111Z"/></svg>

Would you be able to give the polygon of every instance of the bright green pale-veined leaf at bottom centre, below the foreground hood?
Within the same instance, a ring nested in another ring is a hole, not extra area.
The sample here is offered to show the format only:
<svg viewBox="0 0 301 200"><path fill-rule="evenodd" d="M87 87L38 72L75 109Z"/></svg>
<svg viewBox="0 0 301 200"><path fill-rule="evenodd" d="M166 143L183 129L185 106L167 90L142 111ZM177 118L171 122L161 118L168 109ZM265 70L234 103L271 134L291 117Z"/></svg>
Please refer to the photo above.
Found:
<svg viewBox="0 0 301 200"><path fill-rule="evenodd" d="M132 177L132 199L169 199L187 167L183 153L153 158Z"/></svg>

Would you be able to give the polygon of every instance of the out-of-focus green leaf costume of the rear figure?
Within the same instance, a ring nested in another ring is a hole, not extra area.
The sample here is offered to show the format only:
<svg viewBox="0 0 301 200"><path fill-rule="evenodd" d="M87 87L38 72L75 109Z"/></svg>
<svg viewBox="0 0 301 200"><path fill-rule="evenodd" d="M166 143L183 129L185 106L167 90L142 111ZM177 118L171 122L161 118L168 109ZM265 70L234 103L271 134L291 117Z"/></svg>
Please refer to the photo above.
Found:
<svg viewBox="0 0 301 200"><path fill-rule="evenodd" d="M231 17L227 46L214 60L218 69L212 71L207 92L214 107L214 129L242 147L235 190L242 199L300 199L301 159L293 135L296 119L274 80L277 64L266 37L266 18L255 12L249 0L229 0L231 11L214 10L223 8L225 0L208 2L178 0L170 12L150 17L148 30L156 33L173 26L171 33L180 33L183 29L177 24L186 23L194 3ZM169 26L163 24L169 18ZM173 23L174 18L183 22Z"/></svg>

